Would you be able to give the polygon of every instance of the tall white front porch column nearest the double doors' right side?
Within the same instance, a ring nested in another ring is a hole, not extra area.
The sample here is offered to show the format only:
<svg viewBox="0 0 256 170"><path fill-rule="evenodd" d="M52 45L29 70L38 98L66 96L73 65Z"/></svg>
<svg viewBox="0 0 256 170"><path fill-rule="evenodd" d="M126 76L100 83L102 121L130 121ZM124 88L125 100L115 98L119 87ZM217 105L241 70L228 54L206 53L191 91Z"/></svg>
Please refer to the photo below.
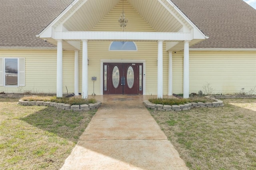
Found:
<svg viewBox="0 0 256 170"><path fill-rule="evenodd" d="M157 57L157 97L163 98L163 42L158 41Z"/></svg>

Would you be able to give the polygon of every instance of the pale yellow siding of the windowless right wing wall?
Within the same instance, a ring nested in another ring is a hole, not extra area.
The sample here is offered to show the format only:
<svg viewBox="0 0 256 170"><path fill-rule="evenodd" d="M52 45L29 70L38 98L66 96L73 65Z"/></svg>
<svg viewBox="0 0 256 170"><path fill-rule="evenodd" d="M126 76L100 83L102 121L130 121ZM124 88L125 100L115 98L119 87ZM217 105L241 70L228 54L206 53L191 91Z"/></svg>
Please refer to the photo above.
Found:
<svg viewBox="0 0 256 170"><path fill-rule="evenodd" d="M183 53L173 55L173 92L182 93ZM240 93L256 86L256 52L190 51L190 93L210 83L213 93Z"/></svg>

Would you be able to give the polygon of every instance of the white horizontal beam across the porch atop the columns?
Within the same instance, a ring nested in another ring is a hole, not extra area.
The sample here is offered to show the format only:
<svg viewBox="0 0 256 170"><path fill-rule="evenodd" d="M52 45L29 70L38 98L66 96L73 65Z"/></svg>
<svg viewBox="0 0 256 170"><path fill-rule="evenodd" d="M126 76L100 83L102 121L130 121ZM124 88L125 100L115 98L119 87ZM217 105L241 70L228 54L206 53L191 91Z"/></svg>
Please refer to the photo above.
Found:
<svg viewBox="0 0 256 170"><path fill-rule="evenodd" d="M42 38L42 37L41 37ZM184 32L55 32L56 40L105 40L105 41L190 41Z"/></svg>

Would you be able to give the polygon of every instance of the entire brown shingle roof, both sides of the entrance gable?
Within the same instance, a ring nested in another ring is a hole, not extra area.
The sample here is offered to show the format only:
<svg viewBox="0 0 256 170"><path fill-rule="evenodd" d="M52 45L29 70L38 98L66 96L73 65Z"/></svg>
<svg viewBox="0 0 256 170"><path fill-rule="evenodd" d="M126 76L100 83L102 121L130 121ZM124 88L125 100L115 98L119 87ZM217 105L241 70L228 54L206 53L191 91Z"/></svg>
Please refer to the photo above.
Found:
<svg viewBox="0 0 256 170"><path fill-rule="evenodd" d="M1 0L0 48L53 48L36 38L73 0ZM172 0L206 36L196 48L256 48L256 10L242 0Z"/></svg>

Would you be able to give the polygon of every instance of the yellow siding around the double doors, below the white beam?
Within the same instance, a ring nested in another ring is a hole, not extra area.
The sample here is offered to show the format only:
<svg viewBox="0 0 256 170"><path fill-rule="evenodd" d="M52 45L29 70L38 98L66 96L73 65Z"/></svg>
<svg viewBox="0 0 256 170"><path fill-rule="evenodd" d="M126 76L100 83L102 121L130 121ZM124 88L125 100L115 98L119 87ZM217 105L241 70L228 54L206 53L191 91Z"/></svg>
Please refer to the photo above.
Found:
<svg viewBox="0 0 256 170"><path fill-rule="evenodd" d="M157 94L157 42L136 42L138 51L109 51L111 42L89 42L88 43L88 94L93 93L93 81L91 77L96 76L94 93L100 94L100 60L101 59L134 59L146 61L146 95ZM163 47L164 49L165 47ZM82 51L79 53L80 63L80 87L82 89ZM120 61L122 62L122 61ZM168 52L164 51L164 93L168 94Z"/></svg>

